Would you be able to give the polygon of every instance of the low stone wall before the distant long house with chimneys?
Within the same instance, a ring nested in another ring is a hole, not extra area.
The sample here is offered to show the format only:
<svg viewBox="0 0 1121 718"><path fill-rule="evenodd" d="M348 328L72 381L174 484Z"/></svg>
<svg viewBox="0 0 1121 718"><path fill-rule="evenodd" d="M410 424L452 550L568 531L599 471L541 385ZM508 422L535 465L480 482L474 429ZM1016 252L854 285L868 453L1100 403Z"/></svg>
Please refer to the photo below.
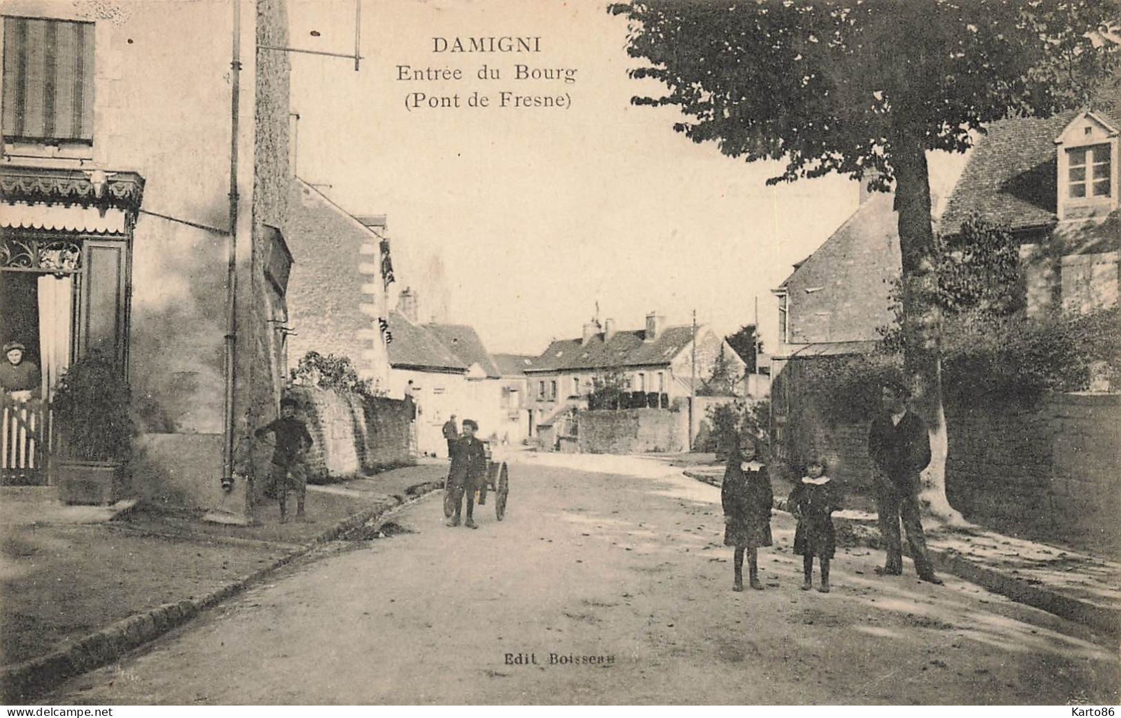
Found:
<svg viewBox="0 0 1121 718"><path fill-rule="evenodd" d="M684 451L687 419L667 409L590 410L576 413L583 454Z"/></svg>

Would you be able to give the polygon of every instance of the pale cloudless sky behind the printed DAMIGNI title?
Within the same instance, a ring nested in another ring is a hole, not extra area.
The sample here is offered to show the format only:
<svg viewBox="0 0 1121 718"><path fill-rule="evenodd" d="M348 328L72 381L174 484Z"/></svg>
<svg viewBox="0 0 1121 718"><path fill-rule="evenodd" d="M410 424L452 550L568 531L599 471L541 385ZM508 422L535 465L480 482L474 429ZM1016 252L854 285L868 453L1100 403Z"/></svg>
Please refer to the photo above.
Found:
<svg viewBox="0 0 1121 718"><path fill-rule="evenodd" d="M674 132L676 110L631 105L658 85L628 77L627 21L605 4L362 0L359 72L290 56L297 172L351 214L387 215L391 304L411 287L421 319L470 324L492 353L580 336L596 306L621 329L651 311L687 324L695 310L730 334L754 321L757 298L775 347L771 289L855 209L856 184L767 186L777 164L724 157ZM289 19L291 46L353 53L354 0L289 0ZM540 52L434 52L436 37L502 36L538 37ZM499 80L479 80L483 64ZM517 64L560 72L518 80ZM402 81L400 66L463 77ZM491 105L467 106L474 92ZM502 92L571 106L495 106ZM427 106L453 94L461 106ZM963 164L932 157L933 190L948 193Z"/></svg>

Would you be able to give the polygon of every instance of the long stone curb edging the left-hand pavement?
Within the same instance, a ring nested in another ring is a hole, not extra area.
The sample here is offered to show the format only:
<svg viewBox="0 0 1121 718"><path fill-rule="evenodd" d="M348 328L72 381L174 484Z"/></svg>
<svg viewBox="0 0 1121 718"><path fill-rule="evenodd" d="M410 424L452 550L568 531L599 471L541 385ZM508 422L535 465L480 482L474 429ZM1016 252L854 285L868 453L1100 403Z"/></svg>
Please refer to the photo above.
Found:
<svg viewBox="0 0 1121 718"><path fill-rule="evenodd" d="M240 594L250 585L309 553L317 546L334 541L369 521L411 503L444 487L443 482L424 482L393 494L369 509L346 516L334 526L313 538L298 550L260 568L201 598L189 598L122 618L83 638L78 638L46 655L0 668L0 702L16 703L40 696L63 681L101 668L138 646L177 628L226 598Z"/></svg>

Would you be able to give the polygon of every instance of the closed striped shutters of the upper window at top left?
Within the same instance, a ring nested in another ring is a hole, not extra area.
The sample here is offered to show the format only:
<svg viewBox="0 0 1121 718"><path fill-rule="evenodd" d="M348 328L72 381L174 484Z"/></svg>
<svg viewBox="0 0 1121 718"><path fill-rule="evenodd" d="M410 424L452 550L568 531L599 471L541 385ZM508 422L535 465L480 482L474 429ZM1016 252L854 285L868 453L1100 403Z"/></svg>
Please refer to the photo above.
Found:
<svg viewBox="0 0 1121 718"><path fill-rule="evenodd" d="M93 142L93 22L3 18L3 138Z"/></svg>

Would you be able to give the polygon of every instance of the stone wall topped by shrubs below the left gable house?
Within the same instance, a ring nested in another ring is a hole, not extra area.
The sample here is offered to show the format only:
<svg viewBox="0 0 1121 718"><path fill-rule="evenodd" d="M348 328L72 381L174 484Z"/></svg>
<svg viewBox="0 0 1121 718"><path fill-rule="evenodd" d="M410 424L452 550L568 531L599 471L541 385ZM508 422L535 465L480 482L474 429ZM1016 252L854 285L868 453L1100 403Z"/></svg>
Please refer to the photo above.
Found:
<svg viewBox="0 0 1121 718"><path fill-rule="evenodd" d="M308 479L350 478L411 461L405 401L361 398L296 386L288 395L300 403L314 444L307 453Z"/></svg>

